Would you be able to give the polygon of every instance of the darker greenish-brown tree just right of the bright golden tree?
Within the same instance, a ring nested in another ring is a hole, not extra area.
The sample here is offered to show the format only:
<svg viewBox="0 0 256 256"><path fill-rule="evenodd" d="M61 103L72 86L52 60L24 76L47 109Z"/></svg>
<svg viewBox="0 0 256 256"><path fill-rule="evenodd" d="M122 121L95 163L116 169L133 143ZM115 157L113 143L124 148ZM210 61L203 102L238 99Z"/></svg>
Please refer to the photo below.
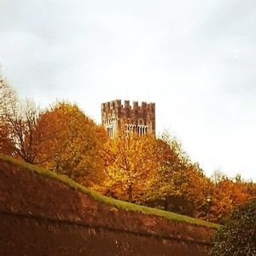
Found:
<svg viewBox="0 0 256 256"><path fill-rule="evenodd" d="M206 217L209 180L200 166L192 163L181 143L165 131L157 140L160 166L145 203L189 216Z"/></svg>

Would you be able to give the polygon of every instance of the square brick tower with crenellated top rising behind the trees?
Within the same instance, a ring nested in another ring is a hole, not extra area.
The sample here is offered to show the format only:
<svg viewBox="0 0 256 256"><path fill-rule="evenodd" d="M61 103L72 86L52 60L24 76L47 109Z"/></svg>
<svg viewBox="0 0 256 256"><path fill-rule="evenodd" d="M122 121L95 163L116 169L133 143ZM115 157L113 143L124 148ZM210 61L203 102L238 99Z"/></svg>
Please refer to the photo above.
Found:
<svg viewBox="0 0 256 256"><path fill-rule="evenodd" d="M121 127L125 132L137 133L138 136L150 133L155 135L155 104L130 101L121 104L121 100L102 103L102 125L109 137L114 137Z"/></svg>

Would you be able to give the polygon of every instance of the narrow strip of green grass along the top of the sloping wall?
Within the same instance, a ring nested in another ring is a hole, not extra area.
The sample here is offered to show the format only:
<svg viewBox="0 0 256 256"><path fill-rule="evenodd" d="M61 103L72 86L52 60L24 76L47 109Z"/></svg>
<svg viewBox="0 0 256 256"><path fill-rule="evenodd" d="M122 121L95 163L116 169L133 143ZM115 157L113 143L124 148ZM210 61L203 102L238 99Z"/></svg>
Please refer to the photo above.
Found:
<svg viewBox="0 0 256 256"><path fill-rule="evenodd" d="M125 201L119 201L119 200L109 198L104 195L100 195L100 194L96 193L95 191L86 189L84 186L80 185L79 183L74 182L72 179L68 178L67 176L63 176L63 175L57 174L55 172L50 172L49 170L46 170L42 167L33 166L24 161L16 160L12 157L9 157L9 156L3 155L3 154L0 154L0 160L4 161L6 163L9 163L12 166L20 166L29 172L36 172L39 175L44 176L44 177L55 178L55 179L59 180L61 183L67 184L68 186L72 187L73 189L79 189L84 194L90 195L96 201L100 201L102 203L106 203L106 204L112 205L114 207L124 209L126 211L142 212L143 214L150 214L150 215L156 215L156 216L159 216L162 218L167 218L171 221L179 221L179 222L185 222L185 223L189 223L189 224L201 225L201 226L205 226L205 227L209 227L209 228L213 228L213 229L218 229L220 227L220 225L218 225L218 224L213 224L213 223L203 221L198 218L190 218L188 216L177 214L174 212L166 212L166 211L162 211L162 210L155 209L155 208L142 207L142 206L138 206L136 204L132 204L132 203L125 202Z"/></svg>

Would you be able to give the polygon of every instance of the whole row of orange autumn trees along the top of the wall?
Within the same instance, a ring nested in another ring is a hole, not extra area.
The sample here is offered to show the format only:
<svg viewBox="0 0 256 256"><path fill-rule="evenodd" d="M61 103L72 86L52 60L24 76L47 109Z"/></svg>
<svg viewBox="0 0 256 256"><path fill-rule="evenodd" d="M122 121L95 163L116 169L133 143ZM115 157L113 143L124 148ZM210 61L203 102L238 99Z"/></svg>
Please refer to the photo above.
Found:
<svg viewBox="0 0 256 256"><path fill-rule="evenodd" d="M256 185L216 172L206 177L168 132L109 139L75 104L40 110L0 77L0 153L48 168L123 201L221 223L253 198Z"/></svg>

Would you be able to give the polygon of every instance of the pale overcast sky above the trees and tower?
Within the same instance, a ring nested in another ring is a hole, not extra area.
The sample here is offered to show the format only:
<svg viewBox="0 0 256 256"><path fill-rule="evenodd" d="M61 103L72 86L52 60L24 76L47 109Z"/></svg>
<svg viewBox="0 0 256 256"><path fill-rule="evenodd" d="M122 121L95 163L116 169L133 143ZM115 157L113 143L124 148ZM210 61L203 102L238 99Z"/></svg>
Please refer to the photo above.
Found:
<svg viewBox="0 0 256 256"><path fill-rule="evenodd" d="M255 0L0 0L0 63L42 108L155 102L210 176L256 181Z"/></svg>

